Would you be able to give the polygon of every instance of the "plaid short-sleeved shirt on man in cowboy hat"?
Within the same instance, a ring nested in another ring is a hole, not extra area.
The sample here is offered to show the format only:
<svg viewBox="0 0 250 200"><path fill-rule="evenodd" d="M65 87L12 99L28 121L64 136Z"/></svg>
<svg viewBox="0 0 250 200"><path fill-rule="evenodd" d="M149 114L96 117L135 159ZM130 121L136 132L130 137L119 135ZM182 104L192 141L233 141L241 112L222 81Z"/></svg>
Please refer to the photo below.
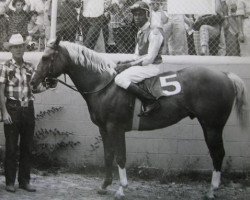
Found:
<svg viewBox="0 0 250 200"><path fill-rule="evenodd" d="M31 63L24 62L18 66L11 59L0 64L0 83L5 84L5 97L19 101L34 100L29 82L34 72Z"/></svg>

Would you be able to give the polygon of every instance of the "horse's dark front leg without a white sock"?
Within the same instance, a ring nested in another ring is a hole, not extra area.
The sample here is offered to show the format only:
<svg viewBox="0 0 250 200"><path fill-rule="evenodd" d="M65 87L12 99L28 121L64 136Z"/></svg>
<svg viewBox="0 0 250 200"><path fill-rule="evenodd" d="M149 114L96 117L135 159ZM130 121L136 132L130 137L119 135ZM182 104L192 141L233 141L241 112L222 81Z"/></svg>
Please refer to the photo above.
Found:
<svg viewBox="0 0 250 200"><path fill-rule="evenodd" d="M104 160L105 160L105 179L102 183L101 188L98 190L99 194L107 194L107 187L111 185L112 176L112 166L114 161L114 144L112 136L109 135L104 129L100 129L100 134L102 136L103 148L104 148Z"/></svg>

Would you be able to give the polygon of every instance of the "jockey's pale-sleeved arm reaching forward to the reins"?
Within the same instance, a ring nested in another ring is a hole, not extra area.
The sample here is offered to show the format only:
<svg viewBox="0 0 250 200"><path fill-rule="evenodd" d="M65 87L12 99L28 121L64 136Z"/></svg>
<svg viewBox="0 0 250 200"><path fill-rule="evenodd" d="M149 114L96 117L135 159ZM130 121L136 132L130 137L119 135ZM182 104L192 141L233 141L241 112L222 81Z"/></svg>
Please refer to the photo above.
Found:
<svg viewBox="0 0 250 200"><path fill-rule="evenodd" d="M146 55L140 56L135 61L131 62L131 65L149 65L152 64L159 53L161 45L163 43L163 36L158 29L154 29L149 35L149 47Z"/></svg>

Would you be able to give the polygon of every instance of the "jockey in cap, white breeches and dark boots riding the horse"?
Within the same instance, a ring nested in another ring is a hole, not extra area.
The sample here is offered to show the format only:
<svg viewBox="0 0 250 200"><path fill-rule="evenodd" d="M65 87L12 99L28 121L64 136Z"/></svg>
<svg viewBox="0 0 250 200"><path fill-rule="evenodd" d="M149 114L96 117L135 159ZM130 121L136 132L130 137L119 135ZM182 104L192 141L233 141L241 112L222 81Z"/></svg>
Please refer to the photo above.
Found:
<svg viewBox="0 0 250 200"><path fill-rule="evenodd" d="M117 64L115 70L118 75L115 78L115 83L142 101L144 111L139 116L146 116L159 109L160 103L136 83L160 74L163 31L161 27L150 27L149 7L145 2L137 1L130 9L134 16L134 22L139 28L135 48L136 58Z"/></svg>

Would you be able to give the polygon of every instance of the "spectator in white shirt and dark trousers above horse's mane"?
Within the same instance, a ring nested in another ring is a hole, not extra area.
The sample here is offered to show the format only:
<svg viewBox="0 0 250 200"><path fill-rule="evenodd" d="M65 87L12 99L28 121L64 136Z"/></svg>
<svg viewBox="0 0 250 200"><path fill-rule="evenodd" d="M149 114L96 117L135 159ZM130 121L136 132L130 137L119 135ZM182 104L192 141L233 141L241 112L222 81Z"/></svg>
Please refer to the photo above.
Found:
<svg viewBox="0 0 250 200"><path fill-rule="evenodd" d="M83 44L94 49L102 28L109 20L109 13L104 11L104 0L83 0L80 26Z"/></svg>

